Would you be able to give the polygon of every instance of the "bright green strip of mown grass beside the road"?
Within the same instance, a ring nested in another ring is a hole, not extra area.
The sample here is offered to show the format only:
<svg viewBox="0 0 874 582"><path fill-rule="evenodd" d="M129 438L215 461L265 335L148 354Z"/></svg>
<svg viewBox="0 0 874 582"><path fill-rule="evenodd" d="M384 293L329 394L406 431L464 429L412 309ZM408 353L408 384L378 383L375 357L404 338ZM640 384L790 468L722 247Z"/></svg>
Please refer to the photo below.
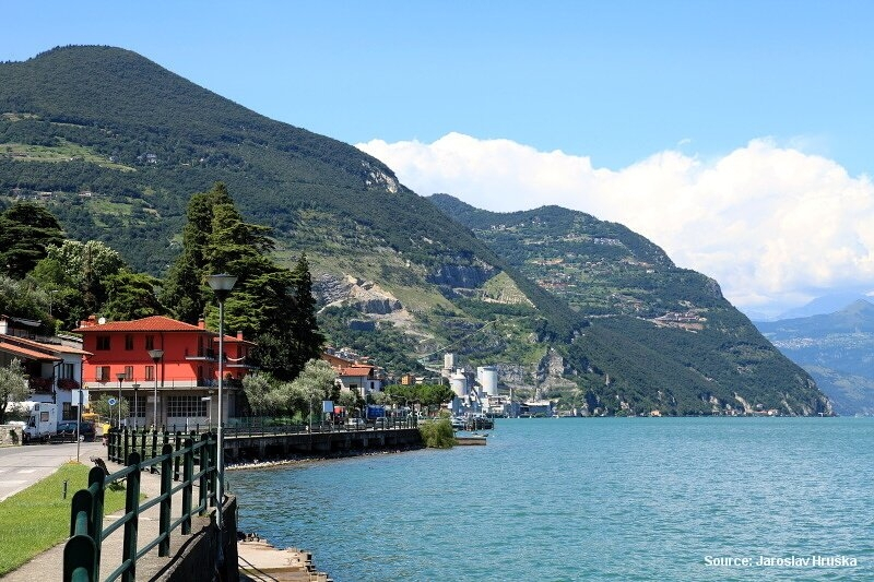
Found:
<svg viewBox="0 0 874 582"><path fill-rule="evenodd" d="M87 486L90 470L90 465L67 463L0 502L0 578L69 537L73 495ZM106 514L122 509L123 489L107 490L105 503Z"/></svg>

